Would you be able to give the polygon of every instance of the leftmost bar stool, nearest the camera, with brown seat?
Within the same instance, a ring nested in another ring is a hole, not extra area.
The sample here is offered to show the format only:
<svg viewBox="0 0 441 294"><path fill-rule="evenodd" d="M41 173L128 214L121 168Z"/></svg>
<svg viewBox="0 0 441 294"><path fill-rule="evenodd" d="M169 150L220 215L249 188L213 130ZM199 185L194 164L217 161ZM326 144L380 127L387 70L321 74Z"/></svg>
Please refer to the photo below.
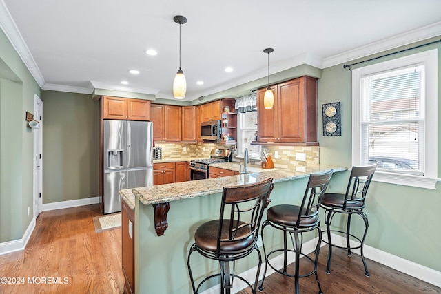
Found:
<svg viewBox="0 0 441 294"><path fill-rule="evenodd" d="M251 185L223 188L219 219L205 222L196 229L195 242L188 253L187 266L193 293L198 293L201 285L213 277L220 277L220 293L231 293L234 277L245 282L252 293L256 293L262 263L256 242L263 211L273 189L272 180L268 178ZM258 253L258 270L253 288L247 280L235 274L234 268L236 260L245 258L254 250ZM217 260L220 264L220 273L205 277L197 288L190 267L190 256L195 251L205 258Z"/></svg>

